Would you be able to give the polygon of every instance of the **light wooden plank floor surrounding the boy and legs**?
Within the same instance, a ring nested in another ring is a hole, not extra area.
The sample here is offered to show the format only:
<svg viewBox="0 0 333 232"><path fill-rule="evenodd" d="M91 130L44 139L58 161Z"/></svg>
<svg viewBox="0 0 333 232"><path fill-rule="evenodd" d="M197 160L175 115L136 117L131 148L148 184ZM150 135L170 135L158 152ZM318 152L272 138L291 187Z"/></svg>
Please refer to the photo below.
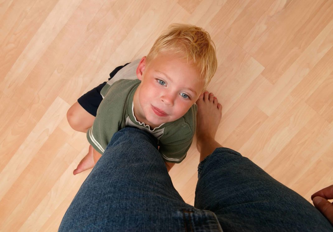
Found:
<svg viewBox="0 0 333 232"><path fill-rule="evenodd" d="M310 200L333 182L333 1L2 0L0 231L56 231L89 171L66 112L173 22L217 48L217 140ZM194 203L198 152L170 175Z"/></svg>

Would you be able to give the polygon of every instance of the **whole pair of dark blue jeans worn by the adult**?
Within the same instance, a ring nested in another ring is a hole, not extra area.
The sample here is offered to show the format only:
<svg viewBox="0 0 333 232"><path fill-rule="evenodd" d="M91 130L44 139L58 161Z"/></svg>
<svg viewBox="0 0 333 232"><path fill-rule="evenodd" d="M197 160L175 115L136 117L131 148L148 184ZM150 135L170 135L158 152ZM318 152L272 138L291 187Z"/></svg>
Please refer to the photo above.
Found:
<svg viewBox="0 0 333 232"><path fill-rule="evenodd" d="M194 207L174 189L152 135L112 137L59 231L332 231L308 201L248 158L217 148L198 166Z"/></svg>

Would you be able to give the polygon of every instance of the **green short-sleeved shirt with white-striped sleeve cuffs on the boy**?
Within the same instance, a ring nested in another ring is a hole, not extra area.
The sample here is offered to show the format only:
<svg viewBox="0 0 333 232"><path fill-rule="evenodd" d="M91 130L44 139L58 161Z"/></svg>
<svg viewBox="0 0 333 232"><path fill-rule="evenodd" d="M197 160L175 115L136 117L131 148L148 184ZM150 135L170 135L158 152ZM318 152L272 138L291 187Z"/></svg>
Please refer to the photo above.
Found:
<svg viewBox="0 0 333 232"><path fill-rule="evenodd" d="M194 104L181 118L151 129L134 116L133 97L140 82L138 79L122 79L103 87L101 95L104 99L97 110L93 126L87 131L88 141L103 154L114 133L127 125L135 126L158 139L159 151L166 162L180 163L193 140L197 106Z"/></svg>

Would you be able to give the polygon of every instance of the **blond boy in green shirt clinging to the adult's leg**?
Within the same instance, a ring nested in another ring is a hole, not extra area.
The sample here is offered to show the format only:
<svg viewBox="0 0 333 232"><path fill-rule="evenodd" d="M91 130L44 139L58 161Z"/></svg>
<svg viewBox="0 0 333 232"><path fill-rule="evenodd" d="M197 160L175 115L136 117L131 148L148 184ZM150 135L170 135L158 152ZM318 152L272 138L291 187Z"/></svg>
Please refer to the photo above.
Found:
<svg viewBox="0 0 333 232"><path fill-rule="evenodd" d="M146 130L158 139L168 171L180 163L195 132L195 102L216 68L215 46L207 32L193 25L171 24L147 57L118 67L108 83L86 94L89 98L100 91L103 101L91 104L80 98L69 109L70 125L87 132L91 144L73 174L92 168L113 134L125 126ZM98 108L96 118L92 105Z"/></svg>

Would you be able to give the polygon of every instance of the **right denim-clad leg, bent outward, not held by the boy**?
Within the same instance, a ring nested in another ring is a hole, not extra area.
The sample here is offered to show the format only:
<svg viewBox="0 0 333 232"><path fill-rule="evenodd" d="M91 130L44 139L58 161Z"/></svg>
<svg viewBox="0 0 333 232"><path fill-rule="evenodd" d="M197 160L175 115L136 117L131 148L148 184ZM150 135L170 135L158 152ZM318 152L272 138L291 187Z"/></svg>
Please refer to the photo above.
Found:
<svg viewBox="0 0 333 232"><path fill-rule="evenodd" d="M333 230L307 200L229 148L199 164L194 206L214 212L223 231Z"/></svg>

